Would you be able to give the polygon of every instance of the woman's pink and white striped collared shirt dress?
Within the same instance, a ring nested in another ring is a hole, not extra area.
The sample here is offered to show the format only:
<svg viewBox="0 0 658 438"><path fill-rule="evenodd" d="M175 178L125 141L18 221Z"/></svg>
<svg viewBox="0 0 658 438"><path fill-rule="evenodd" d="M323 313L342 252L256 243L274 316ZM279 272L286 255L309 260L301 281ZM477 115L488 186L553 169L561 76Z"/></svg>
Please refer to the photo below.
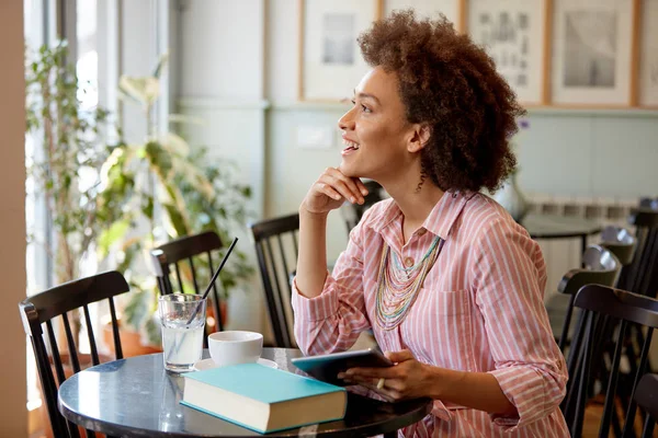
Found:
<svg viewBox="0 0 658 438"><path fill-rule="evenodd" d="M536 242L477 193L445 193L406 244L401 219L393 199L376 204L350 233L322 293L293 291L302 350L347 350L372 328L385 351L407 348L421 362L490 372L518 411L503 417L435 400L432 414L404 436L568 437L558 407L567 370L544 308L546 269ZM390 331L371 323L383 243L412 265L436 235L443 250L405 321Z"/></svg>

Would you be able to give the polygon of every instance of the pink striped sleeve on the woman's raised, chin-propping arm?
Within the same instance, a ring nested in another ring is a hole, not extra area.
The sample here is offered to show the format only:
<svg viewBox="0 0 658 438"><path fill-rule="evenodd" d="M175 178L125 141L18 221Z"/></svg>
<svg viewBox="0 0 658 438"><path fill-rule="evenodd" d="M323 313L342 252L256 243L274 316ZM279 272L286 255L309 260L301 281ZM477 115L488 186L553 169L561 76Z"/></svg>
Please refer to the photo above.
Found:
<svg viewBox="0 0 658 438"><path fill-rule="evenodd" d="M363 298L362 232L360 226L352 230L318 297L304 297L293 283L295 338L306 355L347 350L371 326Z"/></svg>

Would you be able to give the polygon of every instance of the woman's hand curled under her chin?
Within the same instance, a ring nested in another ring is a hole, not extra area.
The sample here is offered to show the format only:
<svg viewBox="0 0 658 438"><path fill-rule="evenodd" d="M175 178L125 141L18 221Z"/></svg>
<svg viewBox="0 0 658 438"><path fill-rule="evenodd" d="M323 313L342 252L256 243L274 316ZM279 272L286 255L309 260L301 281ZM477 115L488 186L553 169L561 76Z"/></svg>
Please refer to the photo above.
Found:
<svg viewBox="0 0 658 438"><path fill-rule="evenodd" d="M303 212L326 215L339 208L347 199L352 204L363 204L367 189L355 177L345 176L336 168L327 168L310 186L299 208Z"/></svg>

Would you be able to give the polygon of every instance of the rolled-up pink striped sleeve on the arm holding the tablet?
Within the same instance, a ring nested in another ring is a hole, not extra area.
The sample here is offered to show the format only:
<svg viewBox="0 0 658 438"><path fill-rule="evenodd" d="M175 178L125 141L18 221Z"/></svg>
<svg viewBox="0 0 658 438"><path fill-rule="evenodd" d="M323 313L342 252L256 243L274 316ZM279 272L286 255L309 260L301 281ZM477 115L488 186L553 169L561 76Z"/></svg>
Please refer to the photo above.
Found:
<svg viewBox="0 0 658 438"><path fill-rule="evenodd" d="M474 245L476 303L485 320L495 369L515 415L491 415L511 431L544 418L565 395L567 371L544 308L542 252L511 219L495 217Z"/></svg>

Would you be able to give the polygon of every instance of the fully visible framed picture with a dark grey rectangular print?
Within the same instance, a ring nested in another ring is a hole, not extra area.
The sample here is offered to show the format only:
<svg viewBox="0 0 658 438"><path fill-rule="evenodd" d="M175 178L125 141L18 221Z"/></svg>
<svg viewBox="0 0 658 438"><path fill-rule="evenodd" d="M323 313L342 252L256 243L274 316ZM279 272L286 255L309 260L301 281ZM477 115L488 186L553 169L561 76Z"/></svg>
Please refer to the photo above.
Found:
<svg viewBox="0 0 658 438"><path fill-rule="evenodd" d="M633 3L554 0L554 104L631 104Z"/></svg>

